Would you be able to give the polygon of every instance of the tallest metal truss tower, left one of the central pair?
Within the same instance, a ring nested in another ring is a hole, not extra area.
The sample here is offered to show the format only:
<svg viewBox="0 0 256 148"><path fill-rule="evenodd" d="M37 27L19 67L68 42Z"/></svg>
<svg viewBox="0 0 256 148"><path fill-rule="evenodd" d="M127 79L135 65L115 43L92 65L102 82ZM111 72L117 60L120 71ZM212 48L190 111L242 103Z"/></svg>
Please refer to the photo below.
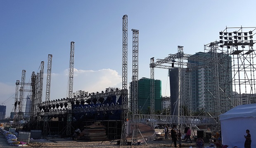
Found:
<svg viewBox="0 0 256 148"><path fill-rule="evenodd" d="M123 94L122 94L122 105L123 105L123 110L122 110L122 134L121 134L121 141L120 141L120 146L121 145L126 145L127 140L126 140L126 120L127 120L127 113L128 113L128 106L127 106L127 99L128 99L128 90L127 90L127 43L128 43L128 16L124 15L123 16L123 58L122 58L122 67L123 67L123 72L122 72L122 89L123 89Z"/></svg>

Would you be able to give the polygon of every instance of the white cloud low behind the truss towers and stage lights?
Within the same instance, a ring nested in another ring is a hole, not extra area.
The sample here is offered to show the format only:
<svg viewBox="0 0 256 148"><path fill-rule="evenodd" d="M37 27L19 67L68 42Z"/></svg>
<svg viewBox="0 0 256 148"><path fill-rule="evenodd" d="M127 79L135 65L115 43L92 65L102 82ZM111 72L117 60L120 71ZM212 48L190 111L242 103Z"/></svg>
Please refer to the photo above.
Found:
<svg viewBox="0 0 256 148"><path fill-rule="evenodd" d="M62 74L55 74L51 77L50 99L59 99L67 96L68 92L68 69ZM46 78L45 78L46 80ZM45 82L46 83L46 82ZM74 68L73 75L73 92L84 90L91 92L101 92L108 87L122 86L122 76L113 69L82 70ZM45 88L45 86L44 86ZM44 95L45 96L45 95ZM45 98L43 97L43 100Z"/></svg>

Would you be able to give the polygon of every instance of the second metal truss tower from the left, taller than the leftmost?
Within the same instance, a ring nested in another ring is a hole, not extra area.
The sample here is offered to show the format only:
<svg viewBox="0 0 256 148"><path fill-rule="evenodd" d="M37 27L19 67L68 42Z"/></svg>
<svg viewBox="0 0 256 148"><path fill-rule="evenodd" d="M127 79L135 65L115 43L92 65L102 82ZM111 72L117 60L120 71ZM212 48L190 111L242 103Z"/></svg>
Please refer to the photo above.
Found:
<svg viewBox="0 0 256 148"><path fill-rule="evenodd" d="M19 120L18 122L22 119L23 117L23 112L22 112L22 107L23 107L23 98L24 98L24 83L25 83L25 76L26 76L26 70L22 70L21 74L21 87L19 88ZM19 128L20 128L20 122L19 122Z"/></svg>

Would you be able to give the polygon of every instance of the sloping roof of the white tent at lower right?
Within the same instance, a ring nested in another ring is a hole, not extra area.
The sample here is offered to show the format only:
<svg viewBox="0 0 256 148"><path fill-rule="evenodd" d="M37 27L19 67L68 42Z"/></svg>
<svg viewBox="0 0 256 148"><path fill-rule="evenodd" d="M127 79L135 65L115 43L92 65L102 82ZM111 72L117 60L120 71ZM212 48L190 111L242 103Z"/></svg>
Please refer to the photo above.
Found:
<svg viewBox="0 0 256 148"><path fill-rule="evenodd" d="M238 118L238 117L254 117L256 118L256 104L238 105L233 109L221 114L220 120Z"/></svg>

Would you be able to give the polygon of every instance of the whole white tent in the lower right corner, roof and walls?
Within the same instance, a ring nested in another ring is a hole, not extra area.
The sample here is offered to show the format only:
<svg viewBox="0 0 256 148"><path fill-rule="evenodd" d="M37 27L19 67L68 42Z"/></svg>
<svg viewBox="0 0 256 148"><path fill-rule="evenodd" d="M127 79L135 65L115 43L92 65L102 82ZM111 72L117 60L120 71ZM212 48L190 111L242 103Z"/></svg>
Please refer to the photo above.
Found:
<svg viewBox="0 0 256 148"><path fill-rule="evenodd" d="M219 117L223 145L244 148L244 135L248 129L251 148L256 148L256 104L236 106Z"/></svg>

